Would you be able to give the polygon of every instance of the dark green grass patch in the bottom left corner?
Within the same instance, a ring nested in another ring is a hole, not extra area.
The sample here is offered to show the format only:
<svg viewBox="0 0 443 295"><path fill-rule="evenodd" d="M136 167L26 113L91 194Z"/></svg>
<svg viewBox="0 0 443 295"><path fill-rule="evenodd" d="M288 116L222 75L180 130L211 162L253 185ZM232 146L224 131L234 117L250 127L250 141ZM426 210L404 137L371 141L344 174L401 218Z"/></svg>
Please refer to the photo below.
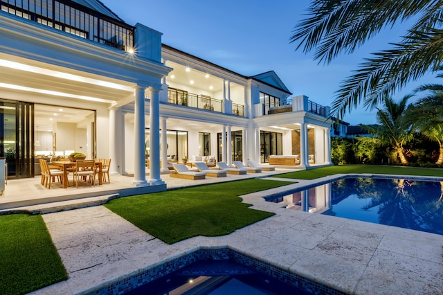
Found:
<svg viewBox="0 0 443 295"><path fill-rule="evenodd" d="M67 278L41 215L0 216L0 294L26 294Z"/></svg>

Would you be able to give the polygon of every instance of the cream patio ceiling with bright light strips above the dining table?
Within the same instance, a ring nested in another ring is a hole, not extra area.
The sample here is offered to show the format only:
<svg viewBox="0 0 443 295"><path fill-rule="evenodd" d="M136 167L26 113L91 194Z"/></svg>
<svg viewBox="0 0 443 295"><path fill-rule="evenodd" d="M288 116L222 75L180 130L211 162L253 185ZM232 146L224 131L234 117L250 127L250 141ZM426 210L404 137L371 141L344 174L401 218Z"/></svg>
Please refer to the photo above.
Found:
<svg viewBox="0 0 443 295"><path fill-rule="evenodd" d="M129 82L3 53L0 53L0 76L0 93L15 91L37 97L106 104L123 100L133 93Z"/></svg>

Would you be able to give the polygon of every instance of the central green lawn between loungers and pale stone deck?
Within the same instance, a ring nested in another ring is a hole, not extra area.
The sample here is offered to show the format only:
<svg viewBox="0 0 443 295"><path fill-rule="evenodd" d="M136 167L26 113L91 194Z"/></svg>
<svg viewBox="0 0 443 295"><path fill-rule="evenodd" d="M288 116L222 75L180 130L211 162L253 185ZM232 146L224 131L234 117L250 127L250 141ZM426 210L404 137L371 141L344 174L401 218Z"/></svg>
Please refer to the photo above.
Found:
<svg viewBox="0 0 443 295"><path fill-rule="evenodd" d="M248 208L237 196L287 184L293 182L246 179L114 199L105 206L172 244L197 235L227 235L273 215Z"/></svg>

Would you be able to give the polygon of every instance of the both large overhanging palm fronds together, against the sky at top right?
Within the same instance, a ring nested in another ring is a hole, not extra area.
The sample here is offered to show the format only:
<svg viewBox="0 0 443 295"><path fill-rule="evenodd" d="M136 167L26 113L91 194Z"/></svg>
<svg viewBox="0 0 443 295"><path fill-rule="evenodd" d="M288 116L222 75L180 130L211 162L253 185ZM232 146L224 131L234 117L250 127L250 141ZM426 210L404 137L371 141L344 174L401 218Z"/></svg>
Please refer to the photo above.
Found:
<svg viewBox="0 0 443 295"><path fill-rule="evenodd" d="M291 42L314 59L329 63L352 53L383 28L415 19L398 44L372 53L337 91L333 116L343 117L363 102L374 107L384 97L443 64L443 1L313 0L307 18L294 28Z"/></svg>

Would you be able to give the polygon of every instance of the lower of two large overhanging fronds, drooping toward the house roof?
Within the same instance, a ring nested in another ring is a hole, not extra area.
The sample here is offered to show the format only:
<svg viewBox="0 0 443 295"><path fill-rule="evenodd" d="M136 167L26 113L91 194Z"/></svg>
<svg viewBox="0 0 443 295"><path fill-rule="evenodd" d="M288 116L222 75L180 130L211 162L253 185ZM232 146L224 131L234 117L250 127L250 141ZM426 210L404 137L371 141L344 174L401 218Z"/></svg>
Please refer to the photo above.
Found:
<svg viewBox="0 0 443 295"><path fill-rule="evenodd" d="M400 44L393 45L393 49L374 53L374 57L361 64L354 75L341 84L332 104L332 114L341 118L360 102L365 107L374 107L407 82L442 65L443 30L411 31Z"/></svg>

